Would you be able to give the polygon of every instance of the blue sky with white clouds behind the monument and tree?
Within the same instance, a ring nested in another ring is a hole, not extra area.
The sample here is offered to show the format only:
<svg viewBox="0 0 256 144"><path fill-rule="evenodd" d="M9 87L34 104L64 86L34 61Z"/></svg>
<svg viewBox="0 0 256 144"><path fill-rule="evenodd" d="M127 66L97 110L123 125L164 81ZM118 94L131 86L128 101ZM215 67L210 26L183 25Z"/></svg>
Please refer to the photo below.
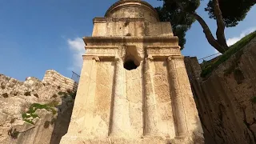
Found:
<svg viewBox="0 0 256 144"><path fill-rule="evenodd" d="M54 69L70 77L71 70L80 73L83 48L81 38L90 36L92 19L104 16L117 0L0 0L0 74L18 80L34 76L42 79L46 70ZM147 0L160 6L157 0ZM203 1L206 2L206 1ZM203 10L198 14L206 19L215 33L216 24ZM256 29L256 7L243 22L226 30L226 38L236 41ZM182 54L198 58L216 51L206 42L202 28L195 22L186 35Z"/></svg>

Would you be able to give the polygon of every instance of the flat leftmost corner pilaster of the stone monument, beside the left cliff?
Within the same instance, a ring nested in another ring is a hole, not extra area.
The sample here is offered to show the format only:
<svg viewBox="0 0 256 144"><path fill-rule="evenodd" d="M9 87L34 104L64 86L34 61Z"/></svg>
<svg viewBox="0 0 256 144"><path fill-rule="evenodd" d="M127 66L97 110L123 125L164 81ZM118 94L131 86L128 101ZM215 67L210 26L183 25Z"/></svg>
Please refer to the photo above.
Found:
<svg viewBox="0 0 256 144"><path fill-rule="evenodd" d="M90 135L90 127L94 111L98 61L99 58L96 56L83 56L81 78L78 84L78 91L67 134Z"/></svg>

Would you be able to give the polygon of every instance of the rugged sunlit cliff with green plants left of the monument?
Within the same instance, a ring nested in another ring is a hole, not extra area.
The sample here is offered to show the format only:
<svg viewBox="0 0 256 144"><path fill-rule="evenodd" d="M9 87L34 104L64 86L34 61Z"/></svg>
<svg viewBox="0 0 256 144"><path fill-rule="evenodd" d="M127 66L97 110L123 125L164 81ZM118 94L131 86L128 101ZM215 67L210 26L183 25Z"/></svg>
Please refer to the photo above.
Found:
<svg viewBox="0 0 256 144"><path fill-rule="evenodd" d="M55 144L66 134L77 83L54 70L41 82L0 74L0 143Z"/></svg>

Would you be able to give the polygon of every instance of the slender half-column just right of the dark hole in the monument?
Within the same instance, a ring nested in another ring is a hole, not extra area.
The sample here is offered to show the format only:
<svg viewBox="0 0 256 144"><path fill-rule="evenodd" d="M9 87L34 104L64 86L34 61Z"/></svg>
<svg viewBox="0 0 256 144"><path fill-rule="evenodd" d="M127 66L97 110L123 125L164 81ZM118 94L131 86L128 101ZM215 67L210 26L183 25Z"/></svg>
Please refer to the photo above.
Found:
<svg viewBox="0 0 256 144"><path fill-rule="evenodd" d="M158 135L158 113L154 95L154 80L150 68L150 61L153 58L145 58L144 63L144 86L145 86L145 127L144 136Z"/></svg>

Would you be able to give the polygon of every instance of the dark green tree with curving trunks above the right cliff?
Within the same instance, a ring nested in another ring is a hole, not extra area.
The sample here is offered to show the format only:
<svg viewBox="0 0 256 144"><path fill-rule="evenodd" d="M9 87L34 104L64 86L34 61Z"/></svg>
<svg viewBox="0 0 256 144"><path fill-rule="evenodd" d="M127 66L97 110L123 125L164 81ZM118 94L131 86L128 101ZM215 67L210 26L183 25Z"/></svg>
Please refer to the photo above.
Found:
<svg viewBox="0 0 256 144"><path fill-rule="evenodd" d="M209 26L195 11L200 6L200 0L158 1L163 1L163 6L156 8L160 19L164 22L171 22L174 35L178 36L179 45L182 48L186 43L186 31L197 20L202 26L207 41L221 53L229 49L224 34L225 27L236 26L246 17L247 12L256 2L255 0L209 0L205 10L217 23L216 38L214 38Z"/></svg>

